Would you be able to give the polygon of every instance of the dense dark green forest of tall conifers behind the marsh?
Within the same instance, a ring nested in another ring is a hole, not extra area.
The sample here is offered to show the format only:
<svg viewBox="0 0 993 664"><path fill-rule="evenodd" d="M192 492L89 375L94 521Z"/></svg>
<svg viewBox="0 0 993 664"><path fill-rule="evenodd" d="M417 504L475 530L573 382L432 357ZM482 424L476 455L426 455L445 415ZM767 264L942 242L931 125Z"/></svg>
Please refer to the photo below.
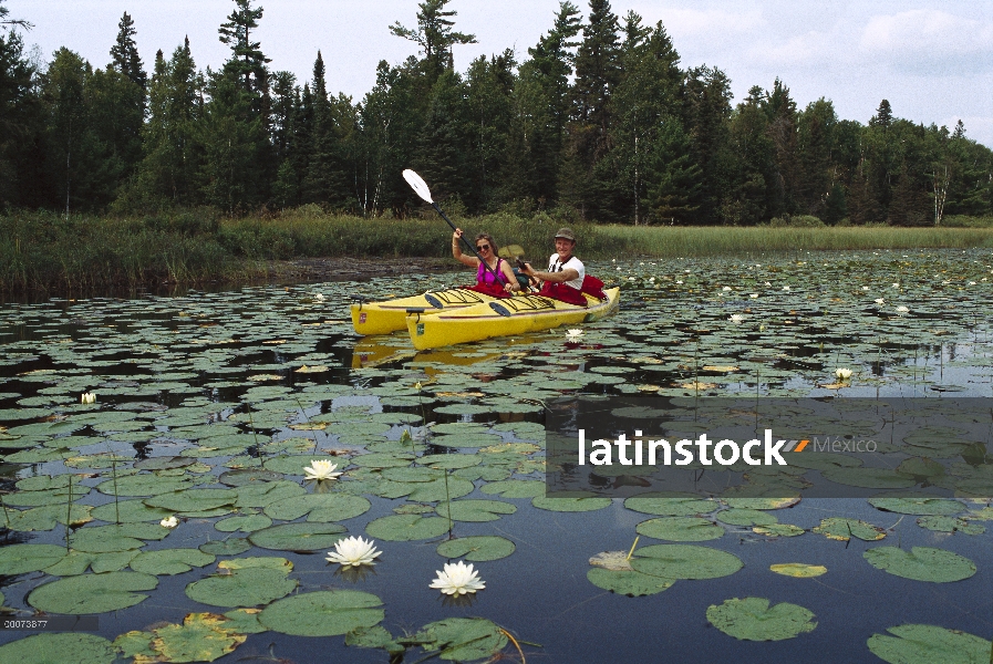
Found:
<svg viewBox="0 0 993 664"><path fill-rule="evenodd" d="M273 70L263 10L232 0L224 65L197 68L187 39L151 74L125 12L111 61L25 51L30 24L0 0L0 206L155 214L213 206L238 215L316 204L405 216L414 168L453 211L547 210L599 222L940 225L993 214L993 152L955 127L894 115L863 125L821 97L798 108L778 79L732 104L715 66L680 66L662 22L608 0L583 17L560 2L518 61L511 49L455 71L449 0L390 27L417 56L380 62L361 101L328 91L320 51L309 81Z"/></svg>

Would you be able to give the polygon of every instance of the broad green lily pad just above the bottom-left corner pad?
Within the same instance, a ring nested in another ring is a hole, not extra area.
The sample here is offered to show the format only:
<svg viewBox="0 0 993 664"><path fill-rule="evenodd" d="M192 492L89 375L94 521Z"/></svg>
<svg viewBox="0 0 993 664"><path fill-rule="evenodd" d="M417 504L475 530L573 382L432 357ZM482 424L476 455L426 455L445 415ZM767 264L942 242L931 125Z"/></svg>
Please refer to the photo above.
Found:
<svg viewBox="0 0 993 664"><path fill-rule="evenodd" d="M134 606L154 590L158 579L139 572L82 574L45 583L31 591L28 603L45 613L106 613Z"/></svg>

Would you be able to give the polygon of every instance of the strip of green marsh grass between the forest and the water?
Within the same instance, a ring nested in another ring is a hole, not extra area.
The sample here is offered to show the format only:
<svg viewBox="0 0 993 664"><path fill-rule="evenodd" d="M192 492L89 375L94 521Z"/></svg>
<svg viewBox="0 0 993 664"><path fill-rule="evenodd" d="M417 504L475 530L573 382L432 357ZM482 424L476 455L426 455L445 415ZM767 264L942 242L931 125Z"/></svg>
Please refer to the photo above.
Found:
<svg viewBox="0 0 993 664"><path fill-rule="evenodd" d="M990 219L958 222L941 228L572 226L577 253L587 259L993 247ZM520 245L534 260L550 252L555 230L566 225L540 212L456 224ZM12 212L0 216L0 291L249 282L273 276L272 261L294 258L444 258L451 235L436 218L362 219L307 208L241 219L220 219L209 210L142 219Z"/></svg>

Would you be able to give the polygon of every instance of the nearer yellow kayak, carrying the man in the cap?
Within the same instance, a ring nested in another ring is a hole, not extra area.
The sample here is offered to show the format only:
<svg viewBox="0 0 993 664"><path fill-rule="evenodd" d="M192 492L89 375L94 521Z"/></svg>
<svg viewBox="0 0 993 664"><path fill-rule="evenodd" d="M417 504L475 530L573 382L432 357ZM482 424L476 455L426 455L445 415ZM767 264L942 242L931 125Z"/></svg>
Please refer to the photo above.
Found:
<svg viewBox="0 0 993 664"><path fill-rule="evenodd" d="M494 299L472 307L444 309L430 315L411 313L406 328L418 351L454 343L480 341L493 336L540 332L559 325L599 320L612 313L619 302L620 289L604 291L606 300L583 295L588 307L577 307L542 295L515 295Z"/></svg>

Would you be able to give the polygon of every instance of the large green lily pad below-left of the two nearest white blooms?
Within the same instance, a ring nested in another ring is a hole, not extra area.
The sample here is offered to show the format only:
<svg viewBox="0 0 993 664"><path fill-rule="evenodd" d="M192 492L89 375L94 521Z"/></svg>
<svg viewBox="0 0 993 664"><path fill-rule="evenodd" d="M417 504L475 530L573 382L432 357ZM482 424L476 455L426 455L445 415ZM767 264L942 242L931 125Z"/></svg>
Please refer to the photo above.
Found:
<svg viewBox="0 0 993 664"><path fill-rule="evenodd" d="M293 636L340 636L382 622L382 604L374 594L358 590L307 592L269 604L259 622Z"/></svg>

